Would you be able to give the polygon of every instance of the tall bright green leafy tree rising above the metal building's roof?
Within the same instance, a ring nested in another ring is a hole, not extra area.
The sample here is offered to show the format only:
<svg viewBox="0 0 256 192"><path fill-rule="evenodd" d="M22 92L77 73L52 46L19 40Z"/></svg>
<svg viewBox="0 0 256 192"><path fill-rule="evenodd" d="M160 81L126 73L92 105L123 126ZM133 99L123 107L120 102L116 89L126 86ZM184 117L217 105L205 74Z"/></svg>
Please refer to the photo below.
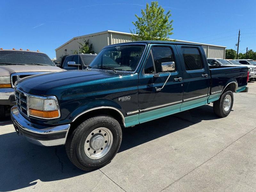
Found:
<svg viewBox="0 0 256 192"><path fill-rule="evenodd" d="M164 8L158 5L157 1L152 1L151 5L146 4L146 9L141 9L141 17L135 14L138 19L132 24L135 29L130 30L132 40L162 40L166 41L172 35L172 22L169 18L172 16L171 10L166 14Z"/></svg>

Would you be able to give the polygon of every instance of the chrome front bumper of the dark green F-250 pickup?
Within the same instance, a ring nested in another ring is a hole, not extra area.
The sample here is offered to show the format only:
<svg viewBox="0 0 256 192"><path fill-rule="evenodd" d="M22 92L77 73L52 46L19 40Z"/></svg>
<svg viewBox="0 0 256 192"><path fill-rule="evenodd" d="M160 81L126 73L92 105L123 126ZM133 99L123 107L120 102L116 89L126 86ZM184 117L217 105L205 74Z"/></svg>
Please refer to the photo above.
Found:
<svg viewBox="0 0 256 192"><path fill-rule="evenodd" d="M12 107L11 118L16 132L25 136L31 143L41 146L56 146L66 143L70 124L55 127L33 124L20 114L17 106Z"/></svg>

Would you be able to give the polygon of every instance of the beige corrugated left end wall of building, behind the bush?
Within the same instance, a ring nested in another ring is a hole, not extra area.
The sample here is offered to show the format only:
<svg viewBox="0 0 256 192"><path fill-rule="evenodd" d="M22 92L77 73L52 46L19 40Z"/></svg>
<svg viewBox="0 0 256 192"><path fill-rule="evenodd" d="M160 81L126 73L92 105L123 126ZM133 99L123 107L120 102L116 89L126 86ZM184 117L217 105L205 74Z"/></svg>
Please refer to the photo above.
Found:
<svg viewBox="0 0 256 192"><path fill-rule="evenodd" d="M101 35L95 35L95 36L89 36L89 37L85 37L85 38L81 37L79 39L74 39L56 51L57 60L59 60L59 58L61 56L71 55L74 53L75 50L78 51L78 49L79 49L78 42L83 43L84 40L87 41L88 39L89 39L89 44L92 43L92 48L93 48L94 52L97 54L100 52L100 50L103 47L105 47L109 44L108 43L108 33L101 34ZM67 49L67 51L65 51L65 49Z"/></svg>

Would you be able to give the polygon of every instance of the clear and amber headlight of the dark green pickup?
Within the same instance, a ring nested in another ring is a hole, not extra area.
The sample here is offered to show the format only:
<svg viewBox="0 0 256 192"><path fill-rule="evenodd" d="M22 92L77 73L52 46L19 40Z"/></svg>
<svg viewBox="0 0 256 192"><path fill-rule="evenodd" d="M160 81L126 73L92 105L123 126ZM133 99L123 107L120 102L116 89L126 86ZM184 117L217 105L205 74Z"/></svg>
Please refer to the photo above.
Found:
<svg viewBox="0 0 256 192"><path fill-rule="evenodd" d="M29 116L55 119L60 117L58 100L54 96L50 97L29 97L28 98L28 113Z"/></svg>

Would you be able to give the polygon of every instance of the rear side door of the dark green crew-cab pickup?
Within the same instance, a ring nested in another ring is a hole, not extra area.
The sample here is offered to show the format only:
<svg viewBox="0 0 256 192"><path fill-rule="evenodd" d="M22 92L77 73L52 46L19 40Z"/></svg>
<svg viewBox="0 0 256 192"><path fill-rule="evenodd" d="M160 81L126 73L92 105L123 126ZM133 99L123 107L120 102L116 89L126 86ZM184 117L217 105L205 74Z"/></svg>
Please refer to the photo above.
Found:
<svg viewBox="0 0 256 192"><path fill-rule="evenodd" d="M206 104L211 76L201 46L178 45L178 49L184 84L182 111Z"/></svg>

